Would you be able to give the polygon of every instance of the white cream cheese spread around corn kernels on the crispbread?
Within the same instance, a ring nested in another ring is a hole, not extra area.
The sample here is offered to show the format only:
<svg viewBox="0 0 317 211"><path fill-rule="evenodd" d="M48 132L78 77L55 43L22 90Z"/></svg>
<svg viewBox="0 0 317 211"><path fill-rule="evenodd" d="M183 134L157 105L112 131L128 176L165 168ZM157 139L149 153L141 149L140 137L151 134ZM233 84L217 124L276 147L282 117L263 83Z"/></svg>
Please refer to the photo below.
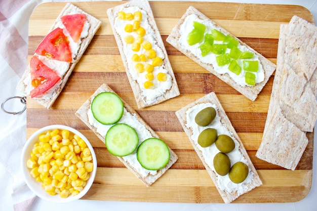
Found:
<svg viewBox="0 0 317 211"><path fill-rule="evenodd" d="M164 58L165 58L164 53L163 53L162 49L157 45L157 42L155 41L156 35L154 33L153 28L149 24L148 15L147 15L146 11L141 10L138 7L128 7L128 8L122 7L121 11L123 11L125 13L132 13L132 14L134 14L134 12L136 12L136 11L140 11L142 13L142 20L140 21L140 26L143 27L146 31L145 35L143 36L143 42L149 41L149 43L152 44L152 49L155 50L155 52L156 52L156 56L161 57L164 60ZM162 96L166 91L171 89L172 77L168 73L168 70L164 68L164 66L161 65L161 66L154 67L154 71L152 72L154 75L154 79L151 81L154 84L153 88L152 89L145 89L144 88L143 84L147 80L145 77L145 74L147 72L143 71L141 73L138 73L137 71L135 71L134 66L135 66L136 62L133 62L131 58L136 53L138 55L141 55L141 54L145 55L145 50L143 48L141 48L139 52L134 52L131 50L131 44L126 44L126 42L124 41L124 38L127 35L133 35L134 39L136 39L136 37L137 37L137 34L135 32L128 33L124 30L125 26L127 24L133 24L133 22L134 22L134 20L131 20L131 21L121 20L121 19L116 17L115 22L114 22L114 28L115 28L116 32L121 37L122 44L123 44L123 51L124 51L125 57L127 59L129 73L131 74L132 78L137 81L137 83L141 89L142 95L145 96L146 103L150 104L150 103L155 102L157 97ZM147 59L147 60L149 60L149 59ZM146 61L146 62L148 62L148 61ZM145 65L146 62L139 62L139 63L142 63L143 65ZM156 79L156 75L159 72L166 73L166 75L167 75L166 81L159 81Z"/></svg>

